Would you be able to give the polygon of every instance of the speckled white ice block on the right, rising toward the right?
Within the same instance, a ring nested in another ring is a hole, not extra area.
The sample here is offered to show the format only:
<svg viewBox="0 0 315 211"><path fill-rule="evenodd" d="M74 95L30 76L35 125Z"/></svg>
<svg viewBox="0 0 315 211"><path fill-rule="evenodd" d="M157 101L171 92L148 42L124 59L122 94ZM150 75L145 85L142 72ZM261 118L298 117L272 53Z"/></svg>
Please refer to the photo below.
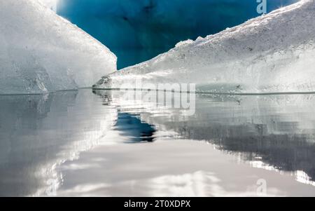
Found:
<svg viewBox="0 0 315 211"><path fill-rule="evenodd" d="M315 1L302 0L179 43L153 60L104 76L94 88L121 88L126 81L133 88L141 79L141 88L196 83L197 90L215 93L315 91L314 20Z"/></svg>

